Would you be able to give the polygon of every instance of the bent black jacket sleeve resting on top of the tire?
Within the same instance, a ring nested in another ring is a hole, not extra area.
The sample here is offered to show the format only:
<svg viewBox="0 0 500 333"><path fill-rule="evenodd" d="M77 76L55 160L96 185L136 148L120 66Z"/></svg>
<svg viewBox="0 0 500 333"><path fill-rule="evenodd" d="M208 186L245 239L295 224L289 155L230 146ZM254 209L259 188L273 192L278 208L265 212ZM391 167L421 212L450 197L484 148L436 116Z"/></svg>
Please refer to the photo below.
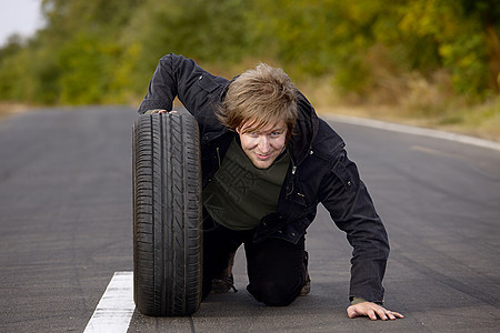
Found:
<svg viewBox="0 0 500 333"><path fill-rule="evenodd" d="M173 100L179 97L186 109L194 114L219 87L216 81L221 80L227 81L204 71L194 60L170 53L158 62L138 112L144 113L152 109L170 111Z"/></svg>

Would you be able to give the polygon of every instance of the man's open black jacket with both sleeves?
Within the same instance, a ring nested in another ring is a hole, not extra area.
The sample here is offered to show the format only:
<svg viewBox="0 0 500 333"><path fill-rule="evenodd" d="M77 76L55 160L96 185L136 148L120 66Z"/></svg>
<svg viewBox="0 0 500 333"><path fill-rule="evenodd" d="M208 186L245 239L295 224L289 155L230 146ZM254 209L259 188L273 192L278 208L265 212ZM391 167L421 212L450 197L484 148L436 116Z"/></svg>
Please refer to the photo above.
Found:
<svg viewBox="0 0 500 333"><path fill-rule="evenodd" d="M214 77L182 56L163 57L139 108L171 110L179 97L200 128L203 185L216 174L236 135L214 117L230 81ZM254 234L296 243L311 224L322 203L353 246L350 296L383 301L382 279L389 255L384 226L360 180L358 168L347 158L342 139L316 114L298 92L299 118L288 144L292 165L284 179L276 213L264 216Z"/></svg>

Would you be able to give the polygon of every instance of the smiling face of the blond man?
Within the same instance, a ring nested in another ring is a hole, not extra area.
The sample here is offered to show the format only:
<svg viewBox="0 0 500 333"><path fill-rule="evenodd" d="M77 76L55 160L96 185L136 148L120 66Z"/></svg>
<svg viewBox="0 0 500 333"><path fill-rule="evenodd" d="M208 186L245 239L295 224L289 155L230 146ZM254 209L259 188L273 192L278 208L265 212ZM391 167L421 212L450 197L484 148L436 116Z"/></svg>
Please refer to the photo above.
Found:
<svg viewBox="0 0 500 333"><path fill-rule="evenodd" d="M236 129L241 148L256 168L268 169L284 150L287 125L281 121L258 131L246 131L250 124L246 122Z"/></svg>

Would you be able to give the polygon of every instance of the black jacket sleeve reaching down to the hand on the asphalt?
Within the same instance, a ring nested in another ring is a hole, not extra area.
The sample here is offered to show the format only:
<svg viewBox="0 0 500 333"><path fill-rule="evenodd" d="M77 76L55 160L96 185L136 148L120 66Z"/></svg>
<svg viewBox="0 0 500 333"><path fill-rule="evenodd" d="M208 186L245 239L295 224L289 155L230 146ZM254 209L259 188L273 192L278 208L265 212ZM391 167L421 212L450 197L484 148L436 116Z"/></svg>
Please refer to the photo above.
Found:
<svg viewBox="0 0 500 333"><path fill-rule="evenodd" d="M389 241L358 168L344 150L337 155L323 184L321 202L353 248L350 300L382 303Z"/></svg>

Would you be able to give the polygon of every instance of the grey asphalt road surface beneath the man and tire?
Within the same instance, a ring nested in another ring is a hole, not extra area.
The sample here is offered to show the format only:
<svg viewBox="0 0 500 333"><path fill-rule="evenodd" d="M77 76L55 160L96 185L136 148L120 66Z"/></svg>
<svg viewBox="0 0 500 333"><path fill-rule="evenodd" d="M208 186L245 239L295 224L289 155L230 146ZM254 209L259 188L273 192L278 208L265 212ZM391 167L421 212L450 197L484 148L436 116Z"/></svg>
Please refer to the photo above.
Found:
<svg viewBox="0 0 500 333"><path fill-rule="evenodd" d="M0 122L0 332L82 332L111 276L132 271L127 108L40 110ZM191 317L136 312L129 332L499 332L500 151L332 123L391 242L386 305L349 320L350 248L328 213L310 228L312 291L287 307L211 295Z"/></svg>

